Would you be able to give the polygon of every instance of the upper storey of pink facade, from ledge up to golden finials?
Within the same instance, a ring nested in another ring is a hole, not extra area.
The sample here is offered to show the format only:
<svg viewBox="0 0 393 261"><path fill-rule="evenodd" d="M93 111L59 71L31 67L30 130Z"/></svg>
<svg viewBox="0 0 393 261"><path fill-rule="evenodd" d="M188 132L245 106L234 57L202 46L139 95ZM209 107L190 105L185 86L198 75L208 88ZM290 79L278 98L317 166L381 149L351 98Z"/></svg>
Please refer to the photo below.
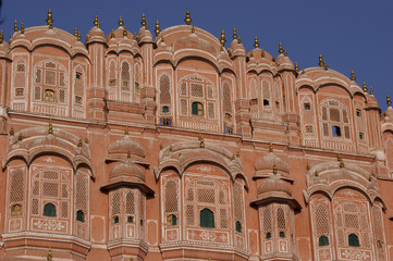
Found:
<svg viewBox="0 0 393 261"><path fill-rule="evenodd" d="M137 34L120 18L106 36L96 16L85 44L76 29L53 27L51 12L46 26L15 23L10 42L0 37L0 103L9 113L393 157L392 108L381 116L353 72L347 78L321 55L299 71L281 44L275 58L257 38L247 52L235 29L226 49L223 30L219 39L191 22L188 11L185 25L161 30L157 21L153 37L145 15Z"/></svg>

